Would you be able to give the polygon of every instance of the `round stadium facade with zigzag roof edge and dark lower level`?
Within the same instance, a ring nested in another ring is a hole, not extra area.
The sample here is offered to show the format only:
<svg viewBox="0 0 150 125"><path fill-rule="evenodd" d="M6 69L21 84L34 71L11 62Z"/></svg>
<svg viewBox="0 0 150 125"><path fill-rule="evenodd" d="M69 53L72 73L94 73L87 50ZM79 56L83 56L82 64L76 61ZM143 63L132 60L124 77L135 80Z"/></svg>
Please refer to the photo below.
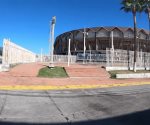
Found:
<svg viewBox="0 0 150 125"><path fill-rule="evenodd" d="M71 39L72 55L83 53L84 31L86 31L86 52L101 53L106 48L134 50L134 30L130 27L95 27L72 30L59 35L54 44L55 54L68 54L68 41ZM113 35L112 35L113 33ZM113 37L112 37L113 36ZM150 52L149 31L137 29L137 50Z"/></svg>

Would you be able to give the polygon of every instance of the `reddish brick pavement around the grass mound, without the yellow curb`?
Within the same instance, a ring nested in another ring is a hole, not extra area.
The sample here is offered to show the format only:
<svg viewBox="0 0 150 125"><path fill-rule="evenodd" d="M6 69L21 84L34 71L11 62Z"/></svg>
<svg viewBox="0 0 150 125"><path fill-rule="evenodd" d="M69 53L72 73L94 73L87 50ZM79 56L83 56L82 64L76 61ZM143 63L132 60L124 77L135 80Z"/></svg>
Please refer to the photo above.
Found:
<svg viewBox="0 0 150 125"><path fill-rule="evenodd" d="M109 79L106 71L104 69L101 69L100 66L84 66L79 64L71 65L69 68L67 67L66 64L55 64L57 66L66 67L68 74L71 74L72 78L50 79L50 78L36 77L38 74L38 70L44 67L45 65L46 64L40 63L21 64L12 68L9 72L1 72L0 86L4 85L63 86L63 85L99 85L99 84L115 84L127 82L128 83L150 82L150 79L126 79L126 80ZM94 71L92 71L93 69ZM81 72L79 72L79 70L81 70ZM74 73L74 71L76 74ZM96 73L94 73L95 71ZM86 76L85 73L87 73Z"/></svg>

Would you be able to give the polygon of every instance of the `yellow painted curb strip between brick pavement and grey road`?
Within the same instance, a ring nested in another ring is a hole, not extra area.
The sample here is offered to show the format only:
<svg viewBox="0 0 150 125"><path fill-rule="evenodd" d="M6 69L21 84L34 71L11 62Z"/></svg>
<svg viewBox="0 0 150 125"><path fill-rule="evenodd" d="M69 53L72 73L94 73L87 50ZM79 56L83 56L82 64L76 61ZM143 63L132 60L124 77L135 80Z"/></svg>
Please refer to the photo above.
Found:
<svg viewBox="0 0 150 125"><path fill-rule="evenodd" d="M0 86L0 90L66 90L66 89L95 89L95 88L111 88L111 87L124 87L124 86L138 86L150 85L150 82L137 82L137 83L113 83L113 84L99 84L99 85L64 85L64 86L51 86L51 85L14 85L14 86Z"/></svg>

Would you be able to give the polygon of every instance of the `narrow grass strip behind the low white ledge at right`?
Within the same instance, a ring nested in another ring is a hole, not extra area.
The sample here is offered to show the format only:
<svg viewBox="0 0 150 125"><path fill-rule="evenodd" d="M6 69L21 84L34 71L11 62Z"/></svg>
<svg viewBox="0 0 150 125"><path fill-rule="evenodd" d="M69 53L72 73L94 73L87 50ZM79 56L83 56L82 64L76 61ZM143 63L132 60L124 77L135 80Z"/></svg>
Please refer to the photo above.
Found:
<svg viewBox="0 0 150 125"><path fill-rule="evenodd" d="M111 78L115 79L116 74L137 74L137 73L150 73L149 70L137 70L134 72L133 70L115 70L115 71L108 71Z"/></svg>

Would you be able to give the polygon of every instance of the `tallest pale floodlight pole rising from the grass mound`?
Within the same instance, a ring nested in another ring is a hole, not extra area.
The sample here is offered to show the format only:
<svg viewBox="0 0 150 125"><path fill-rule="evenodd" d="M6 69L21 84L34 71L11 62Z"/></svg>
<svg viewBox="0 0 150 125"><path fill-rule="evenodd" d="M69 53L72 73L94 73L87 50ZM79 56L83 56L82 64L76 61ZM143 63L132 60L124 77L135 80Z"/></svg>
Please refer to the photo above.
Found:
<svg viewBox="0 0 150 125"><path fill-rule="evenodd" d="M54 67L54 60L53 60L53 55L54 55L54 29L55 29L55 23L56 23L56 16L52 17L51 21L51 31L50 31L50 42L51 42L51 60L50 60L50 65L49 67Z"/></svg>

